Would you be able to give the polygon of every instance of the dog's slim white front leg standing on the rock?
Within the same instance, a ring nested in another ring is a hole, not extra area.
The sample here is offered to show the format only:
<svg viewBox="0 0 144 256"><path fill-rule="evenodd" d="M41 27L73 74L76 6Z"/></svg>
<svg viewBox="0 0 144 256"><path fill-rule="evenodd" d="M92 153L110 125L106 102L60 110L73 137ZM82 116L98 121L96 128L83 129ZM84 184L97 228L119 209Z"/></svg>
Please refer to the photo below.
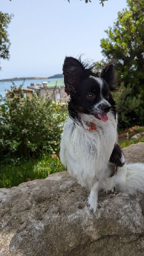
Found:
<svg viewBox="0 0 144 256"><path fill-rule="evenodd" d="M88 196L87 206L90 206L90 212L96 212L97 210L97 200L98 200L99 182L95 182L90 191L90 196Z"/></svg>

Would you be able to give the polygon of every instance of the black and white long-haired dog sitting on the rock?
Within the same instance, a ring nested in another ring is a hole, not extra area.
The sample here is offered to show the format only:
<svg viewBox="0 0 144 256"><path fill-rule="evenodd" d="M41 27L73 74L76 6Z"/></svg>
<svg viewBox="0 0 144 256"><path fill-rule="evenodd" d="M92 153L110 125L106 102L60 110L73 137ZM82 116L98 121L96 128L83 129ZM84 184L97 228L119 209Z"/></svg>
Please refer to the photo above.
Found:
<svg viewBox="0 0 144 256"><path fill-rule="evenodd" d="M111 95L113 64L109 63L97 77L81 60L67 57L63 74L70 101L60 159L81 186L90 188L90 211L97 209L100 189L144 191L144 164L126 164L117 144L117 114Z"/></svg>

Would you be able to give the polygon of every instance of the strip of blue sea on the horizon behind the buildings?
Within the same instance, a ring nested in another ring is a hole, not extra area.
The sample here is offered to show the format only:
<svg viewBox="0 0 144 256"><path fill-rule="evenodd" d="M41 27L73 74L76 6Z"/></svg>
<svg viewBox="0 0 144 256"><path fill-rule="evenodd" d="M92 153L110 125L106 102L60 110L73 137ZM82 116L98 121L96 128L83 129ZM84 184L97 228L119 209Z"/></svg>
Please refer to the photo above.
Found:
<svg viewBox="0 0 144 256"><path fill-rule="evenodd" d="M37 83L42 83L42 82L51 82L51 81L58 81L58 79L60 78L49 78L49 79L33 79L33 80L25 80L25 81L14 81L13 83L15 84L15 86L19 87L23 82L24 84L22 85L22 88L27 88L29 85L31 85L31 83L37 84ZM13 86L12 81L6 81L6 82L1 82L0 81L0 95L2 97L5 97L5 92L8 90L11 90L11 87ZM48 84L49 85L49 84Z"/></svg>

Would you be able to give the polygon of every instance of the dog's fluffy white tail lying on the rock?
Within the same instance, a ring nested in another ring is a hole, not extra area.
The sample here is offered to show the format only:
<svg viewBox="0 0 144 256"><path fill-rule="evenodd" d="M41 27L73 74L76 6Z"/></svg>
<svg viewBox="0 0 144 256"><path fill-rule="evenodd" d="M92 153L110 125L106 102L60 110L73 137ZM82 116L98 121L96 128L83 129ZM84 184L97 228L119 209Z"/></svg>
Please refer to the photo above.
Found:
<svg viewBox="0 0 144 256"><path fill-rule="evenodd" d="M122 190L133 194L144 192L144 163L125 164L126 175Z"/></svg>

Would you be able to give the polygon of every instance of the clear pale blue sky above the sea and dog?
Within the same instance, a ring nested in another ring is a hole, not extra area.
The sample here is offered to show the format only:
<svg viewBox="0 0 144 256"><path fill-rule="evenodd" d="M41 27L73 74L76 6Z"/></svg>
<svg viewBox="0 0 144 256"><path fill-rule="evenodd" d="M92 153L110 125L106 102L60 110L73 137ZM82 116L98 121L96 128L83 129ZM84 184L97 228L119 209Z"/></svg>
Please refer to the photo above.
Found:
<svg viewBox="0 0 144 256"><path fill-rule="evenodd" d="M113 26L126 0L0 0L0 11L13 13L8 34L10 60L1 60L0 79L61 74L65 56L99 61L100 39Z"/></svg>

